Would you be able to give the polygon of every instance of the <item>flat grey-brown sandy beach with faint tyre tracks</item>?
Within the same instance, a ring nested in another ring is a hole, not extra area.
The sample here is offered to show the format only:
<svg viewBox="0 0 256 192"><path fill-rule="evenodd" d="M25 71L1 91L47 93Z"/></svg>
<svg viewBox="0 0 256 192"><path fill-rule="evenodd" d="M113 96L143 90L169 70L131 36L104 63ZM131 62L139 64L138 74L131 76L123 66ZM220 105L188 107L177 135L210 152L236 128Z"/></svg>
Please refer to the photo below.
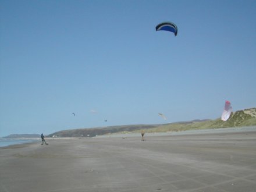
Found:
<svg viewBox="0 0 256 192"><path fill-rule="evenodd" d="M0 148L0 191L256 191L256 129Z"/></svg>

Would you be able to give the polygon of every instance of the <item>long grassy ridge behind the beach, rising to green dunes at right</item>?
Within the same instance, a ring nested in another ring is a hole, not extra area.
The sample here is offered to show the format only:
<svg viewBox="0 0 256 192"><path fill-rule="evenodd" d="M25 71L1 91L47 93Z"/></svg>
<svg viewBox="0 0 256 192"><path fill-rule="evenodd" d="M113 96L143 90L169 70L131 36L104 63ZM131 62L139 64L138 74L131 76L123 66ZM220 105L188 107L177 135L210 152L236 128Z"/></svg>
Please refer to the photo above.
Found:
<svg viewBox="0 0 256 192"><path fill-rule="evenodd" d="M195 129L213 129L223 127L239 127L256 125L256 108L236 111L230 115L230 118L223 122L221 118L215 120L192 120L189 122L176 122L163 125L125 125L109 126L91 129L73 129L62 130L52 134L50 137L94 137L104 134L116 133L140 133L142 130L147 133L166 132L166 131L183 131Z"/></svg>

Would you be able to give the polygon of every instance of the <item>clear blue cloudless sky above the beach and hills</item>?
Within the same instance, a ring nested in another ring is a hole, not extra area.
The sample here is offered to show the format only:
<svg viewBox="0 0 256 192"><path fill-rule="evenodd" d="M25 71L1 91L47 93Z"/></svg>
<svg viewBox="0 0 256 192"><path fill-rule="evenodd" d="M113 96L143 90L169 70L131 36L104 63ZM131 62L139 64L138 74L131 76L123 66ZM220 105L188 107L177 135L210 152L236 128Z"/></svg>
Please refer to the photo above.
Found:
<svg viewBox="0 0 256 192"><path fill-rule="evenodd" d="M0 0L0 19L0 137L256 106L255 0Z"/></svg>

